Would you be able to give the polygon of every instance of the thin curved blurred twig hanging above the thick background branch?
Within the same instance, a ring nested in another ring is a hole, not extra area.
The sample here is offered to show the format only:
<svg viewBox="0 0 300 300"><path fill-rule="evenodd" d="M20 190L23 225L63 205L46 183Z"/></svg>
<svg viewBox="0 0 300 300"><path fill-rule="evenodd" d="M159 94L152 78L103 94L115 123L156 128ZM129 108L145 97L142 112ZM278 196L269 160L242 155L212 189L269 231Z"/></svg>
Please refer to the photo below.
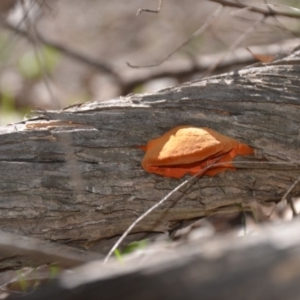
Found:
<svg viewBox="0 0 300 300"><path fill-rule="evenodd" d="M165 62L167 59L169 59L175 52L177 52L183 46L188 44L195 37L198 37L199 35L201 35L209 26L211 26L211 24L214 22L214 20L220 15L222 10L223 10L223 7L219 7L212 14L212 16L197 31L195 31L185 42L183 42L179 47L177 47L175 50L173 50L171 53L169 53L165 58L163 58L158 63L151 64L151 65L137 66L137 65L132 65L131 63L127 62L127 65L131 68L152 68L152 67L157 67L157 66L161 65L163 62Z"/></svg>

